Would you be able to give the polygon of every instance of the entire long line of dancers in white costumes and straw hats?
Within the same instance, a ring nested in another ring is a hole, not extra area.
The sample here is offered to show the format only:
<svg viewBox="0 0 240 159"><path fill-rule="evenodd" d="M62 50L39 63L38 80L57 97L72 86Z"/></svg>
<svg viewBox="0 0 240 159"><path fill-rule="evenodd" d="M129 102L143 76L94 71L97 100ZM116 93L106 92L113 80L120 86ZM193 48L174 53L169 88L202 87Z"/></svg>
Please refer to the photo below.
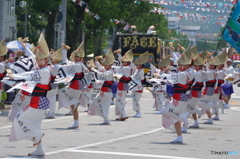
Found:
<svg viewBox="0 0 240 159"><path fill-rule="evenodd" d="M154 97L157 114L162 114L163 126L177 133L171 142L182 143L182 132L187 132L190 115L194 119L190 128L199 128L198 118L205 113L209 118L205 124L219 120L219 108L224 113L224 107L229 107L232 83L238 75L227 53L216 57L206 51L198 54L197 46L184 49L181 55L173 48L171 57L165 57L159 68L151 64L149 75L144 76L144 64L151 62L148 52L133 61L132 50L121 56L121 50L109 49L104 58L95 57L85 66L83 42L69 60L66 56L69 46L63 44L57 51L49 51L43 34L36 47L29 49L25 42L22 39L24 50L18 51L14 63L4 60L8 48L4 40L0 43L0 77L2 83L12 87L8 92L19 90L8 114L8 120L13 122L9 141L32 141L37 149L29 156L45 155L41 124L46 110L46 118L54 118L57 94L58 109L69 107L73 115L73 125L68 129L79 128L79 105L87 105L89 115L102 117L100 125L109 125L109 108L114 97L116 120L129 118L126 94L130 91L134 117L141 117L140 98L146 79L153 85L148 89ZM64 64L59 64L61 60ZM59 84L65 87L58 90ZM94 89L98 93L92 100Z"/></svg>

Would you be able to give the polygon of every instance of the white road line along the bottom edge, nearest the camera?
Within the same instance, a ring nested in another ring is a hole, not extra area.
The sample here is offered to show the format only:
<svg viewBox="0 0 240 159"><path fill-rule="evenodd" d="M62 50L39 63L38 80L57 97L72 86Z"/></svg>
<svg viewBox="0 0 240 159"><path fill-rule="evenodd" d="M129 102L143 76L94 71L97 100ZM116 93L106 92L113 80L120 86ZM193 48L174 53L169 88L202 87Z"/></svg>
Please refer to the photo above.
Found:
<svg viewBox="0 0 240 159"><path fill-rule="evenodd" d="M91 151L91 150L68 150L67 152L95 153L95 154L104 154L104 155L107 154L107 155L120 155L120 156L148 157L148 158L196 159L196 158L177 157L177 156L151 155L151 154L140 154L140 153L124 153L124 152L109 152L109 151Z"/></svg>

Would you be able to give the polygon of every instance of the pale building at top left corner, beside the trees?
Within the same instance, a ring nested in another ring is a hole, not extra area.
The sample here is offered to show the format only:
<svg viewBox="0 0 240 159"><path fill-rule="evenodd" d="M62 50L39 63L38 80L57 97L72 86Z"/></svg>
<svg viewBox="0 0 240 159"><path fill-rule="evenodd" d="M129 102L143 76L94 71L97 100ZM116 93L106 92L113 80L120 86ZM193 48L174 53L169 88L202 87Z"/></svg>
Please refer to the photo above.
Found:
<svg viewBox="0 0 240 159"><path fill-rule="evenodd" d="M7 41L15 40L17 37L17 17L15 15L16 0L5 0L5 29L4 38Z"/></svg>

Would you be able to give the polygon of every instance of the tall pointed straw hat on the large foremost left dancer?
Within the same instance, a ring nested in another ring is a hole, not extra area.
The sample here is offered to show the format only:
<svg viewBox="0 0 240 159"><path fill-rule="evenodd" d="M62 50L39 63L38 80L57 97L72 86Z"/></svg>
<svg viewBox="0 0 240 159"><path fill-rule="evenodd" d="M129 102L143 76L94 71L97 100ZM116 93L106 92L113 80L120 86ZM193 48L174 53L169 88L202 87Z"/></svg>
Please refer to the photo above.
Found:
<svg viewBox="0 0 240 159"><path fill-rule="evenodd" d="M48 48L47 42L43 36L43 33L41 33L41 35L38 39L38 45L34 52L35 52L36 58L38 58L38 59L45 59L49 55L49 48Z"/></svg>

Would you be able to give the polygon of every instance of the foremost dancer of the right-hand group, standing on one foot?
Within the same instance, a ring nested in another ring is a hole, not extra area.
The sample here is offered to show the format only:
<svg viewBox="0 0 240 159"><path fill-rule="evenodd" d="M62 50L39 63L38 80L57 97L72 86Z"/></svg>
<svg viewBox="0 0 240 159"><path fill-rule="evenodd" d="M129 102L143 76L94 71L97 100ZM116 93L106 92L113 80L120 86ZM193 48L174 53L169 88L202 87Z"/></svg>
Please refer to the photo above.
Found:
<svg viewBox="0 0 240 159"><path fill-rule="evenodd" d="M191 63L191 56L187 56L190 48L186 49L178 60L179 72L172 74L173 84L173 99L166 105L162 114L163 126L167 129L176 131L177 138L170 141L171 143L182 143L181 120L185 115L187 108L188 97L186 91L188 89L188 78L186 75L186 65Z"/></svg>

